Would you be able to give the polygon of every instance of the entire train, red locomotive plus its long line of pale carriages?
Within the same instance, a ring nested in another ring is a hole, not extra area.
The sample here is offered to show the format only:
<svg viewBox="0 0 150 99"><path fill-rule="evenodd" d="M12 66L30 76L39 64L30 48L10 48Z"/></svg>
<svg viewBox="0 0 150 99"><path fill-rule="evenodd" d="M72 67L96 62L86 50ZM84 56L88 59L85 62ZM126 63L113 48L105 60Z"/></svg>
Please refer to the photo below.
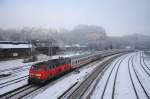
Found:
<svg viewBox="0 0 150 99"><path fill-rule="evenodd" d="M31 66L29 70L29 83L44 83L54 77L58 77L66 72L79 68L92 61L99 60L106 56L126 52L128 50L109 50L104 52L94 52L81 54L75 57L51 59Z"/></svg>

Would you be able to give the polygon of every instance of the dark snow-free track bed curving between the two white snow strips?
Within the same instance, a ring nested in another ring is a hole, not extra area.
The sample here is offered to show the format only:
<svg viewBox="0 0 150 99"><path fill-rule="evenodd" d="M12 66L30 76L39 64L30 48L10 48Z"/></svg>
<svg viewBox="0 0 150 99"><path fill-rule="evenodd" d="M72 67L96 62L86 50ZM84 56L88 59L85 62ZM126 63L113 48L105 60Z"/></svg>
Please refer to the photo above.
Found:
<svg viewBox="0 0 150 99"><path fill-rule="evenodd" d="M114 61L115 58L116 57L113 57L107 60L107 62L102 63L83 82L78 84L78 86L73 86L73 88L70 88L70 90L67 90L66 92L64 92L60 97L58 97L58 99L66 99L66 98L67 99L81 99L83 98L84 94L86 93L87 89L89 89L93 81L98 77L98 75L104 70L105 67L107 67L112 61Z"/></svg>

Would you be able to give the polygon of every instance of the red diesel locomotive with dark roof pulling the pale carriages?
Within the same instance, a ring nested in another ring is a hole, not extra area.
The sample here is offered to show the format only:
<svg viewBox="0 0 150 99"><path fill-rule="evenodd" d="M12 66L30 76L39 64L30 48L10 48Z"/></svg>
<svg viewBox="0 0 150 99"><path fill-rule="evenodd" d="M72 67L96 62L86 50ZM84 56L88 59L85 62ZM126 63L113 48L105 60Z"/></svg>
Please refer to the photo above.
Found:
<svg viewBox="0 0 150 99"><path fill-rule="evenodd" d="M45 81L70 70L70 58L52 59L40 62L31 66L28 82L44 83Z"/></svg>

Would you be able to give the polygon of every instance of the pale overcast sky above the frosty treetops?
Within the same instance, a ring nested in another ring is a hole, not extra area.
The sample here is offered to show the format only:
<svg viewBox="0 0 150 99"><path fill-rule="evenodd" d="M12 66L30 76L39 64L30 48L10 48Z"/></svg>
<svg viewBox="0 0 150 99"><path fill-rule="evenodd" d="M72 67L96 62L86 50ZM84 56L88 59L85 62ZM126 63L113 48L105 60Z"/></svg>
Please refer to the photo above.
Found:
<svg viewBox="0 0 150 99"><path fill-rule="evenodd" d="M108 35L150 33L150 0L0 0L0 27L72 29L98 25Z"/></svg>

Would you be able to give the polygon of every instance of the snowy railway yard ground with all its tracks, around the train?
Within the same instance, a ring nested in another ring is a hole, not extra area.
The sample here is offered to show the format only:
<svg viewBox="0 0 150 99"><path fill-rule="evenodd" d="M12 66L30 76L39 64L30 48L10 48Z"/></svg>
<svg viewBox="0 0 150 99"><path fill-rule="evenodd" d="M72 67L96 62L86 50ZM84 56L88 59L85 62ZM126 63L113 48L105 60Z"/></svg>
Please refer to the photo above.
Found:
<svg viewBox="0 0 150 99"><path fill-rule="evenodd" d="M5 64L0 72L11 75L0 77L0 99L150 99L150 56L143 51L106 57L42 85L28 84L31 64Z"/></svg>

